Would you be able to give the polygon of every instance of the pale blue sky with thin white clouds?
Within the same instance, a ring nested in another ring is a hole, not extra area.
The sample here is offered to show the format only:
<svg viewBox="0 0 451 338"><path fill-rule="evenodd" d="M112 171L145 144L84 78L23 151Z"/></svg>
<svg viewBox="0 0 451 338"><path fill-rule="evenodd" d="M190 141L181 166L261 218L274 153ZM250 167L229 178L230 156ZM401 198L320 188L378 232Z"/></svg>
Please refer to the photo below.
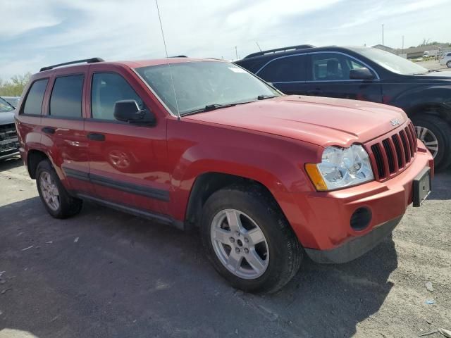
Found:
<svg viewBox="0 0 451 338"><path fill-rule="evenodd" d="M296 44L451 42L450 0L159 0L169 56ZM166 56L155 0L1 0L0 79L82 58Z"/></svg>

